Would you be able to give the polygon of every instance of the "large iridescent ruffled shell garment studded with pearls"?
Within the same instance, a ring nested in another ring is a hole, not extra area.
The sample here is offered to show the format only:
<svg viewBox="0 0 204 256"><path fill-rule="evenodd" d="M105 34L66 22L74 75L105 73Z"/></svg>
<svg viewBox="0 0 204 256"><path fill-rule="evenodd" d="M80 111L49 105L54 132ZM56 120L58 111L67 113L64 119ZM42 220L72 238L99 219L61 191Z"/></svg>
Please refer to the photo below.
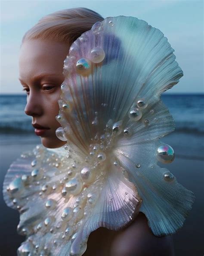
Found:
<svg viewBox="0 0 204 256"><path fill-rule="evenodd" d="M19 256L81 256L93 230L119 230L139 211L157 236L182 227L194 195L157 164L175 157L160 141L174 130L161 93L183 75L173 51L160 30L125 16L96 22L71 45L56 117L67 144L38 146L4 181L26 235Z"/></svg>

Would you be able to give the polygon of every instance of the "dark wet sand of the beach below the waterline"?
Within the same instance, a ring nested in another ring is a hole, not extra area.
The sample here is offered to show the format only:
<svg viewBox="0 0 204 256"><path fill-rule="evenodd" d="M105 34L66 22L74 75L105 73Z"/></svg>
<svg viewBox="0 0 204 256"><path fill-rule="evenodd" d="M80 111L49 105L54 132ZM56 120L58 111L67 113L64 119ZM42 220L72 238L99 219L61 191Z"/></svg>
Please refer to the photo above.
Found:
<svg viewBox="0 0 204 256"><path fill-rule="evenodd" d="M170 144L176 154L173 163L166 167L176 176L177 180L187 189L195 193L193 209L184 226L173 235L175 256L201 256L203 246L203 181L204 160L202 150L204 138L198 135L169 134L162 141ZM31 150L39 140L34 137L19 135L6 136L0 145L0 256L15 256L16 250L25 238L19 236L16 227L19 223L17 211L8 208L3 201L2 185L9 165L20 156L22 151ZM197 145L197 146L196 146Z"/></svg>

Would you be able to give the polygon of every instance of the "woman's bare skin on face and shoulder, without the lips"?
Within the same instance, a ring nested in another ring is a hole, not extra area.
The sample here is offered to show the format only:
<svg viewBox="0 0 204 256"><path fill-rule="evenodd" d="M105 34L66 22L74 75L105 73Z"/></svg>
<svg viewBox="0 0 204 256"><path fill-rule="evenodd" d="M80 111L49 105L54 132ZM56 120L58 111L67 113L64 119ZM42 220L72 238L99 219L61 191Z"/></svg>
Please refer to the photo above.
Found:
<svg viewBox="0 0 204 256"><path fill-rule="evenodd" d="M56 121L59 113L58 99L64 80L63 61L68 45L62 42L25 41L19 56L19 80L27 93L26 115L32 124L46 127L40 136L45 147L62 147L55 134L60 126ZM43 77L41 76L42 74ZM47 74L47 75L45 75ZM83 256L173 256L171 237L155 237L148 227L144 214L120 231L99 228L90 234Z"/></svg>

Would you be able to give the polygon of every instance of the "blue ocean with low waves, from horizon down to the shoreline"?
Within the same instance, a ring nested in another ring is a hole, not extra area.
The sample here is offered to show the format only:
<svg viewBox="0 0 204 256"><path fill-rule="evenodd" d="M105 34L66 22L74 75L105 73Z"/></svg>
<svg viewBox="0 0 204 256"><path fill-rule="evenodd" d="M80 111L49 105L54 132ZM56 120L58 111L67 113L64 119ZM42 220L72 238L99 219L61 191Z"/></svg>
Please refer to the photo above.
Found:
<svg viewBox="0 0 204 256"><path fill-rule="evenodd" d="M176 132L204 134L204 94L163 94L176 123ZM0 95L0 134L33 133L25 115L25 95Z"/></svg>

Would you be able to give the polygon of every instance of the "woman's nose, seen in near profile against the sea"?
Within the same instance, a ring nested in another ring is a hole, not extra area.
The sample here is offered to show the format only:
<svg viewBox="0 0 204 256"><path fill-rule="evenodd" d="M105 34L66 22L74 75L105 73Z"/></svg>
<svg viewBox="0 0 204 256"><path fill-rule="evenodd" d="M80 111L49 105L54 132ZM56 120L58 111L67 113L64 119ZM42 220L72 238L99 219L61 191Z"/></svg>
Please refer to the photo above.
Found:
<svg viewBox="0 0 204 256"><path fill-rule="evenodd" d="M40 116L43 113L43 107L41 105L40 97L35 93L29 94L27 97L27 103L25 106L25 114L31 116Z"/></svg>

